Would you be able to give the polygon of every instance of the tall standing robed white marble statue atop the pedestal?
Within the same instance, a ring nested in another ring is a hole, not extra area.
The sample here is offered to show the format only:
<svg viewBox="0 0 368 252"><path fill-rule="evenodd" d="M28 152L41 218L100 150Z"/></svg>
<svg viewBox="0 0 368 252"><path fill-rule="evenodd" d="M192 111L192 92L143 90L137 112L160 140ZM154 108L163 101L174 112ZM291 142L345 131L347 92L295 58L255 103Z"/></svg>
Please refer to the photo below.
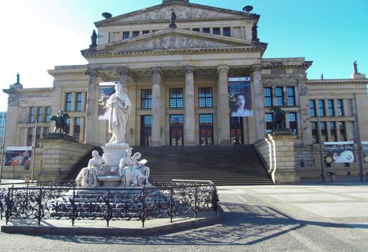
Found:
<svg viewBox="0 0 368 252"><path fill-rule="evenodd" d="M127 119L132 103L129 97L122 92L120 83L115 83L115 92L108 98L106 106L110 107L108 132L113 133L109 143L125 143Z"/></svg>

